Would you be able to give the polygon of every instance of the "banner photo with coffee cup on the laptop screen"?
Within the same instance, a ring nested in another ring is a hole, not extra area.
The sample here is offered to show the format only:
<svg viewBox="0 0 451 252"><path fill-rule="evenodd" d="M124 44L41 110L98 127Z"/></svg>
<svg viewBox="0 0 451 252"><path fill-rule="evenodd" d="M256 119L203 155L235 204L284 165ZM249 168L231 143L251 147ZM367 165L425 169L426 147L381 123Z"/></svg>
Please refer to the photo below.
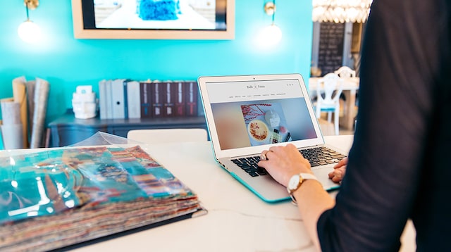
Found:
<svg viewBox="0 0 451 252"><path fill-rule="evenodd" d="M222 150L316 138L303 97L212 103Z"/></svg>

